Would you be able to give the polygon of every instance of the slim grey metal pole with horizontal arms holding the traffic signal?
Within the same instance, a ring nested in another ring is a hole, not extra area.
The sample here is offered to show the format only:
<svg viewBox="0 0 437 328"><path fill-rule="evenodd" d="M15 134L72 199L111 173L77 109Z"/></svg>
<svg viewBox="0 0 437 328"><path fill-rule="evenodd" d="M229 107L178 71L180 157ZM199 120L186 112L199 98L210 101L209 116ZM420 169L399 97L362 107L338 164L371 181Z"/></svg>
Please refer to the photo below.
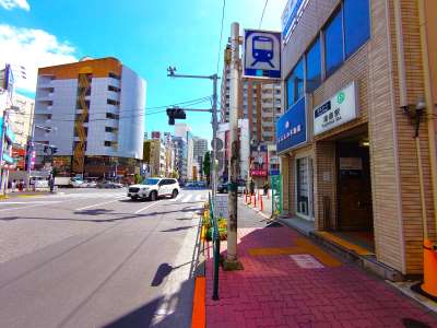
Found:
<svg viewBox="0 0 437 328"><path fill-rule="evenodd" d="M190 108L182 108L187 112L211 112L212 113L212 169L211 169L211 189L212 196L215 200L215 195L217 190L217 129L218 129L218 120L217 120L217 80L220 79L217 74L212 75L191 75L191 74L176 74L176 68L169 67L167 69L169 78L185 78L185 79L208 79L212 80L213 82L213 93L212 93L212 109L190 109Z"/></svg>

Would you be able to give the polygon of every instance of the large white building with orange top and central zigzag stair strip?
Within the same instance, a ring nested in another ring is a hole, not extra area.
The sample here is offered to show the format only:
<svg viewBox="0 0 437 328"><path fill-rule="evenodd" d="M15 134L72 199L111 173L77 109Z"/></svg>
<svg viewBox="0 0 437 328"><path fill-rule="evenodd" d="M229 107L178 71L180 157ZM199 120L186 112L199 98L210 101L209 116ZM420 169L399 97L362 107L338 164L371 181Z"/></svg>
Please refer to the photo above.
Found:
<svg viewBox="0 0 437 328"><path fill-rule="evenodd" d="M67 175L133 174L143 154L145 82L116 58L40 68L35 140L54 144L54 165ZM37 165L43 156L37 153Z"/></svg>

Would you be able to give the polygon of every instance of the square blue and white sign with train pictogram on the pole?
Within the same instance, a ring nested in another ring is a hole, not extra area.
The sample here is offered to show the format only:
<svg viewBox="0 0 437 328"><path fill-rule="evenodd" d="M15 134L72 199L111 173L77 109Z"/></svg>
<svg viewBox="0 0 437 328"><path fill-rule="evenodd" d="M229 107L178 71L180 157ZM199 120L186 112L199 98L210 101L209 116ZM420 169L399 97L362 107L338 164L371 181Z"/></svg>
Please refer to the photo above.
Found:
<svg viewBox="0 0 437 328"><path fill-rule="evenodd" d="M281 33L245 30L245 77L281 79Z"/></svg>

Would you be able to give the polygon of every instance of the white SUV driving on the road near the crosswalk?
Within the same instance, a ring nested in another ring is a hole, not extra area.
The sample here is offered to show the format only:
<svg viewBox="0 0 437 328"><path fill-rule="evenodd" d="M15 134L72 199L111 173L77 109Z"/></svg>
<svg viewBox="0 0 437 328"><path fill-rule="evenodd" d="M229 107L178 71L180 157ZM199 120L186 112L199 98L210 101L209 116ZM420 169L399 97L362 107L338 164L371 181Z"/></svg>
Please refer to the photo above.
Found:
<svg viewBox="0 0 437 328"><path fill-rule="evenodd" d="M156 200L158 197L170 196L176 198L180 192L177 179L146 178L139 185L129 186L128 197L131 199Z"/></svg>

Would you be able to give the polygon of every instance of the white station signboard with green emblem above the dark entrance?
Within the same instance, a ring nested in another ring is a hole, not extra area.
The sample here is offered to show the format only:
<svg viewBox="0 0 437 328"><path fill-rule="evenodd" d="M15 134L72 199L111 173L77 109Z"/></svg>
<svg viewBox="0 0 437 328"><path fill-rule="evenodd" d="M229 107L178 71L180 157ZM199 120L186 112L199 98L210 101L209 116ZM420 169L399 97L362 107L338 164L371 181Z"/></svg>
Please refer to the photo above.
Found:
<svg viewBox="0 0 437 328"><path fill-rule="evenodd" d="M356 83L352 82L314 109L314 132L323 133L358 117Z"/></svg>

